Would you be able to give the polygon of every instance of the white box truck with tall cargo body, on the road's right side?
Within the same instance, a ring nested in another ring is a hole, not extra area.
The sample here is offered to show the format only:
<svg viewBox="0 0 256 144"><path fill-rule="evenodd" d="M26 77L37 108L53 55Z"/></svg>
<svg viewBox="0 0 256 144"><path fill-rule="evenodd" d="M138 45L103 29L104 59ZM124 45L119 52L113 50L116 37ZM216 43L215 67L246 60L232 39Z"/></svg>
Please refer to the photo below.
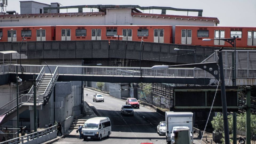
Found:
<svg viewBox="0 0 256 144"><path fill-rule="evenodd" d="M165 112L165 123L166 123L166 142L168 144L174 143L174 131L179 127L188 127L190 130L190 139L193 143L193 113L191 112Z"/></svg>

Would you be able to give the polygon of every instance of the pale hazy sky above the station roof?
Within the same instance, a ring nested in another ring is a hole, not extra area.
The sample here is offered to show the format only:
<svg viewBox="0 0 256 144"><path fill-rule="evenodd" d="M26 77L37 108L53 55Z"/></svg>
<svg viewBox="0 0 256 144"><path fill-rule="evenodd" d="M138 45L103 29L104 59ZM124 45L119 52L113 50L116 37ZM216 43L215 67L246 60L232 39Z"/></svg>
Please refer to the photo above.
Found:
<svg viewBox="0 0 256 144"><path fill-rule="evenodd" d="M1 1L1 0L0 0ZM8 0L7 11L15 10L20 13L21 0ZM75 5L139 5L139 6L165 6L181 9L202 9L203 17L217 17L218 26L256 27L256 0L34 0L41 3L61 3L62 6ZM89 12L90 9L83 9ZM97 11L97 9L95 9ZM61 13L66 13L62 9ZM68 9L68 12L78 12L78 9ZM150 13L161 14L161 10L150 10ZM145 10L144 13L149 13ZM187 12L166 11L171 15L187 15ZM189 12L189 16L197 16L197 12Z"/></svg>

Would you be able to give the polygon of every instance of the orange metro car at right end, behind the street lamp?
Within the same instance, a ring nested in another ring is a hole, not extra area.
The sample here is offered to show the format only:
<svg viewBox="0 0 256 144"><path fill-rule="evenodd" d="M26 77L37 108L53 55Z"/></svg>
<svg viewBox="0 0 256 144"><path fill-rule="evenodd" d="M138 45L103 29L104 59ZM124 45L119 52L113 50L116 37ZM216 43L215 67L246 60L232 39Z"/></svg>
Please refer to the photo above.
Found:
<svg viewBox="0 0 256 144"><path fill-rule="evenodd" d="M236 37L236 47L256 47L256 27L175 26L175 44L233 47L223 40Z"/></svg>

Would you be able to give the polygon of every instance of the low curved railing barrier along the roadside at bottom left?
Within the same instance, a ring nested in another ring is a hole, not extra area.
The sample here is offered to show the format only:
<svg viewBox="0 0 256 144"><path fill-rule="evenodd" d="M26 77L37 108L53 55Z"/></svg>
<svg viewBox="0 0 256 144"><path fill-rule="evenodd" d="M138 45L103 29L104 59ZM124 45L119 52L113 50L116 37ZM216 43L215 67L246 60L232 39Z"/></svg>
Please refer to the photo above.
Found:
<svg viewBox="0 0 256 144"><path fill-rule="evenodd" d="M48 127L47 129L43 129L43 130L31 133L31 134L27 134L27 135L24 135L24 136L21 136L21 137L10 139L8 141L0 142L0 144L5 144L5 143L16 144L16 143L24 143L26 141L31 141L31 140L34 140L34 139L39 138L39 137L47 136L47 134L52 133L53 131L55 131L56 128L57 128L57 125L54 125L52 127Z"/></svg>

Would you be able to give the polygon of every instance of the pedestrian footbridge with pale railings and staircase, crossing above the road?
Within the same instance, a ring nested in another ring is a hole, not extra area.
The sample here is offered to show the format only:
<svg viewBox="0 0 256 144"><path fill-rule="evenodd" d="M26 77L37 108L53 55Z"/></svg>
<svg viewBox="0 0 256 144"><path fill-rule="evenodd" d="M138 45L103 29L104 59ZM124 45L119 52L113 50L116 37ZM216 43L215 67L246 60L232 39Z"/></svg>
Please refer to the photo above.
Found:
<svg viewBox="0 0 256 144"><path fill-rule="evenodd" d="M225 83L231 84L231 50L223 50ZM256 85L256 51L238 50L237 85ZM215 62L217 55L213 53L203 62ZM203 63L202 62L202 63ZM217 64L216 64L217 65ZM209 69L211 69L209 67ZM104 67L104 66L45 66L45 65L3 65L0 66L0 84L16 81L16 73L24 80L33 79L36 74L37 106L45 105L50 97L56 81L96 81L112 83L180 83L209 85L217 80L205 70L199 68L169 68L153 70L149 67ZM33 102L33 86L27 94L19 95L19 109L25 109ZM0 107L0 115L5 118L0 125L15 116L17 99ZM21 110L19 110L22 112Z"/></svg>

